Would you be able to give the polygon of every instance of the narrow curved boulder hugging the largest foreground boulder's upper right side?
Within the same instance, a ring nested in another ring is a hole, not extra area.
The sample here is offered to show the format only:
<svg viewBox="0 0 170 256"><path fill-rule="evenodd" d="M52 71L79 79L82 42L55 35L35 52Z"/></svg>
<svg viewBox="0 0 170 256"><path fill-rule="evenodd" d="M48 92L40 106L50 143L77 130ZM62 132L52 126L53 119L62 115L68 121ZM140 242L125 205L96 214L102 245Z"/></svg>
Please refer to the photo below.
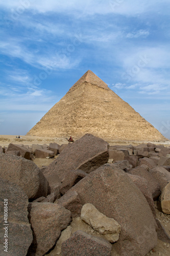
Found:
<svg viewBox="0 0 170 256"><path fill-rule="evenodd" d="M140 166L130 170L129 173L140 176L148 181L148 188L154 200L156 200L160 196L161 187L157 180L155 180L154 177L148 172L148 170L145 170Z"/></svg>

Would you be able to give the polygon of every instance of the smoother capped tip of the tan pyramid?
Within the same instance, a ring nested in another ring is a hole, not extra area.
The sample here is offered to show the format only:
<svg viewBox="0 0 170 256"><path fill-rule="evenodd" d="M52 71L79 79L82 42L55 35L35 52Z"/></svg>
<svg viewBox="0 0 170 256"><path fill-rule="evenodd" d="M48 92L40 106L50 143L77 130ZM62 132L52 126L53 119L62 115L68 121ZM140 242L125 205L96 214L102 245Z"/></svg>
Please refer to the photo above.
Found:
<svg viewBox="0 0 170 256"><path fill-rule="evenodd" d="M86 73L70 89L80 85L83 82L89 82L95 86L109 90L107 84L97 75L95 75L91 70L87 70Z"/></svg>

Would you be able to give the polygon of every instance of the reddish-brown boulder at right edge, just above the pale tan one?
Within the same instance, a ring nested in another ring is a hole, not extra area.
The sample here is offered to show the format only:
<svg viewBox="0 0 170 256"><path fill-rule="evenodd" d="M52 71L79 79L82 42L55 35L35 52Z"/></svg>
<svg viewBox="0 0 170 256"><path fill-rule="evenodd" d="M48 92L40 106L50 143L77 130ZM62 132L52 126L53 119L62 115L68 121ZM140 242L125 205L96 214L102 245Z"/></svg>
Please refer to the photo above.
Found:
<svg viewBox="0 0 170 256"><path fill-rule="evenodd" d="M162 166L151 169L149 173L159 183L161 190L170 182L170 173Z"/></svg>

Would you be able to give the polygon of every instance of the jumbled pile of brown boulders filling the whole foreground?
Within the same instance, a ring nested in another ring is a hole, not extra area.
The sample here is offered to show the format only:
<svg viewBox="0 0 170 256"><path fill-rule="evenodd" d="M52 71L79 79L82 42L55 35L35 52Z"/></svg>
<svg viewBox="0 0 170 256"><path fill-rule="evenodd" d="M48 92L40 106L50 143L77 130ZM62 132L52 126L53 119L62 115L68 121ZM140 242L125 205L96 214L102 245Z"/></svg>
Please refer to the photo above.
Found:
<svg viewBox="0 0 170 256"><path fill-rule="evenodd" d="M59 148L33 145L32 153L56 155ZM23 156L0 153L1 219L4 198L10 202L8 252L144 256L157 238L170 243L154 203L170 214L169 154L152 143L109 147L86 134L42 173ZM0 237L4 251L3 229Z"/></svg>

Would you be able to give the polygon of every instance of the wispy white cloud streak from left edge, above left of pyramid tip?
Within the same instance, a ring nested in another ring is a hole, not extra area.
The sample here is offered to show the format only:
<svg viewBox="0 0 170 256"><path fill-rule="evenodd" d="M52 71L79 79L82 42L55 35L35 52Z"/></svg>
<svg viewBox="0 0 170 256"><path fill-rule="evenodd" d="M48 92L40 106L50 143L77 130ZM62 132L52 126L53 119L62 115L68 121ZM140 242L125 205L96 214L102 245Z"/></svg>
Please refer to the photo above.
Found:
<svg viewBox="0 0 170 256"><path fill-rule="evenodd" d="M8 38L9 42L1 41L0 51L10 57L19 58L29 65L42 69L51 68L52 70L58 69L72 69L80 63L79 57L77 59L71 58L71 53L76 50L72 44L65 47L64 52L53 52L47 49L45 52L29 51L23 46L23 42L17 39ZM70 56L69 56L70 55Z"/></svg>

